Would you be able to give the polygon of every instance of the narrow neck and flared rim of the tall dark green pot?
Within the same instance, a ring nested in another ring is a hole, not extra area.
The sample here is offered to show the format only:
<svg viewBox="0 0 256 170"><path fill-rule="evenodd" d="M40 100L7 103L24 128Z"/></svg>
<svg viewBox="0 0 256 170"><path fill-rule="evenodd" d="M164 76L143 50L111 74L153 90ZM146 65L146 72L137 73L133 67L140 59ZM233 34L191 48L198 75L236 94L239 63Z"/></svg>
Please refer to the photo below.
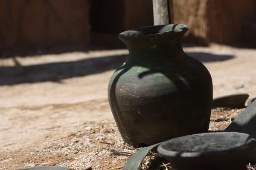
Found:
<svg viewBox="0 0 256 170"><path fill-rule="evenodd" d="M168 62L185 57L181 41L187 30L187 26L177 24L149 26L125 31L119 39L128 48L127 62Z"/></svg>

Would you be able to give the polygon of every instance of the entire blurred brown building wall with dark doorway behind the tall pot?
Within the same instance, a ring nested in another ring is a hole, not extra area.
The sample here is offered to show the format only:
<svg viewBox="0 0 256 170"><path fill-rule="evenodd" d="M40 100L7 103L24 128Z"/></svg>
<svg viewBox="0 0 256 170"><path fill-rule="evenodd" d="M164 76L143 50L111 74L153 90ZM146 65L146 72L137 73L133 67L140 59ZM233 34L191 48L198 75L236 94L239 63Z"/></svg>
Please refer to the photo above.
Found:
<svg viewBox="0 0 256 170"><path fill-rule="evenodd" d="M184 43L255 45L255 0L174 0L173 6L174 23L190 27ZM148 0L1 0L0 14L1 57L15 55L3 52L9 48L125 48L120 32L154 25Z"/></svg>

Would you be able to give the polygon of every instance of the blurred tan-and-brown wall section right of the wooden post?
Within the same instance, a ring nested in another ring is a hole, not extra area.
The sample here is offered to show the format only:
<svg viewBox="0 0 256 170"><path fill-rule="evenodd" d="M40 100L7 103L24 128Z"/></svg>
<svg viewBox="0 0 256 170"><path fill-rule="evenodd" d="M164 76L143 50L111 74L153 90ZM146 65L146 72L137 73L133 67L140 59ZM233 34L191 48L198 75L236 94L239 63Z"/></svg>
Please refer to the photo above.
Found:
<svg viewBox="0 0 256 170"><path fill-rule="evenodd" d="M175 23L189 26L183 42L232 44L253 36L243 23L255 20L256 0L173 0L173 5Z"/></svg>

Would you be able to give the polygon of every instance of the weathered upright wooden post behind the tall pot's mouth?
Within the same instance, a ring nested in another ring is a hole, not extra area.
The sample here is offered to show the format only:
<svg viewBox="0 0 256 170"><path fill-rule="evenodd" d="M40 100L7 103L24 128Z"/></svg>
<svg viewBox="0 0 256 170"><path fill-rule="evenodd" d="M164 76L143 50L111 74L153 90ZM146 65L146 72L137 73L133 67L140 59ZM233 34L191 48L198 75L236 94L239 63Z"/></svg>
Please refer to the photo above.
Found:
<svg viewBox="0 0 256 170"><path fill-rule="evenodd" d="M173 22L172 0L153 0L154 26Z"/></svg>

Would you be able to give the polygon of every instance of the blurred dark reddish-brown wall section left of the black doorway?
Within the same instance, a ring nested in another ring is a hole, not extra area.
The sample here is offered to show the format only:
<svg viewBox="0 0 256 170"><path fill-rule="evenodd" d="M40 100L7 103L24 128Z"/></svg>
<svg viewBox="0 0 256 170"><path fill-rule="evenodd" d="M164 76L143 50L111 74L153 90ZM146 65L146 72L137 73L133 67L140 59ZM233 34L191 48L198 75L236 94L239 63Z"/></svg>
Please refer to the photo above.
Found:
<svg viewBox="0 0 256 170"><path fill-rule="evenodd" d="M89 11L87 0L0 0L0 49L89 44Z"/></svg>

